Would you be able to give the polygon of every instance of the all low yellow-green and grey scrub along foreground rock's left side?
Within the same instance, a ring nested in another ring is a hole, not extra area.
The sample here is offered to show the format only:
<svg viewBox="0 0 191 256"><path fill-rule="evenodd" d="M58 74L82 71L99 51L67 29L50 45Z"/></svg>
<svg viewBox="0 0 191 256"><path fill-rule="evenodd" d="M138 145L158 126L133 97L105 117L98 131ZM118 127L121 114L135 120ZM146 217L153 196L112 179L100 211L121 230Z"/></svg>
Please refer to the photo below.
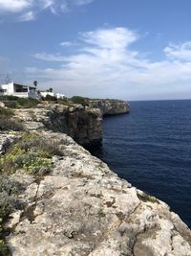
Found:
<svg viewBox="0 0 191 256"><path fill-rule="evenodd" d="M7 109L8 116L11 110ZM13 143L5 154L0 155L0 255L10 256L9 248L5 242L3 223L11 212L23 209L17 196L22 191L19 183L11 179L11 174L22 169L26 173L35 175L36 179L48 174L52 167L53 155L62 155L58 146L53 141L46 141L35 133L23 133Z"/></svg>

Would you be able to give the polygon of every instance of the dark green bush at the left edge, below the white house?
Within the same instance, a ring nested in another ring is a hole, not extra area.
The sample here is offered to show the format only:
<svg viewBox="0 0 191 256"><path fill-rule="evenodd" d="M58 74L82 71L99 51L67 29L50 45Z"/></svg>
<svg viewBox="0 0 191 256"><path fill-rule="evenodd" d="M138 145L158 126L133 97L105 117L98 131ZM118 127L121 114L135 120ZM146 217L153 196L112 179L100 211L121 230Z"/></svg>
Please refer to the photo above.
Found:
<svg viewBox="0 0 191 256"><path fill-rule="evenodd" d="M21 121L13 117L10 108L0 107L0 130L23 130Z"/></svg>

